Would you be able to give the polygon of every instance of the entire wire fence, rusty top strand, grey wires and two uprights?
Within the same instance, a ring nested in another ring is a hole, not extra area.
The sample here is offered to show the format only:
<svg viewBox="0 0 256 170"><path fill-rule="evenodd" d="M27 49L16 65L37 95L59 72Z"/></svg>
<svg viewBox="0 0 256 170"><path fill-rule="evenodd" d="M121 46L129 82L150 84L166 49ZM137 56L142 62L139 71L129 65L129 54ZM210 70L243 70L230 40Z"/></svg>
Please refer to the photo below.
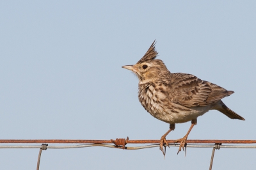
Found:
<svg viewBox="0 0 256 170"><path fill-rule="evenodd" d="M167 140L170 147L179 147L179 144L175 144L175 140ZM159 140L129 140L120 138L116 140L70 140L70 139L2 139L0 143L43 143L42 145L0 145L0 149L26 149L26 148L39 148L38 161L36 169L39 170L40 158L42 154L42 150L47 149L68 149L68 148L86 148L86 147L107 147L107 148L116 148L122 150L141 150L147 148L156 148L159 147ZM49 146L46 143L58 143L58 144L74 144L76 145L65 145L65 146ZM78 144L78 143L86 143L86 144ZM112 144L110 144L112 143ZM149 144L150 143L150 144ZM212 148L212 156L209 169L212 169L212 163L214 158L215 150L220 150L220 148L256 148L256 146L250 145L234 145L234 144L255 144L256 140L188 140L188 144L186 144L187 148ZM192 144L189 144L192 143ZM210 144L211 143L211 144ZM214 143L214 144L212 144ZM229 145L223 145L229 144ZM114 144L114 145L113 145ZM125 146L126 144L149 144L143 146ZM166 145L164 145L166 147Z"/></svg>

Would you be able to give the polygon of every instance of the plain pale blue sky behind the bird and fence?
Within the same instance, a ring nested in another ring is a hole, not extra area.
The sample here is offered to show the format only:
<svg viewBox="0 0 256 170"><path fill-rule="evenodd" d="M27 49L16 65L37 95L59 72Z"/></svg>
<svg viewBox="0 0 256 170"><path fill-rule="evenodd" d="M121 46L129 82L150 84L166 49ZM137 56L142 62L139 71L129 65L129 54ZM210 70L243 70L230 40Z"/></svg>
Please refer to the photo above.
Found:
<svg viewBox="0 0 256 170"><path fill-rule="evenodd" d="M167 123L138 101L121 68L156 39L170 72L192 73L235 93L189 139L255 139L255 1L1 1L1 139L160 139ZM190 122L167 139L179 139ZM130 145L131 146L131 145ZM158 148L43 151L40 169L208 169L211 148L166 158ZM0 169L35 169L38 149L1 149ZM212 169L254 169L256 150L217 150Z"/></svg>

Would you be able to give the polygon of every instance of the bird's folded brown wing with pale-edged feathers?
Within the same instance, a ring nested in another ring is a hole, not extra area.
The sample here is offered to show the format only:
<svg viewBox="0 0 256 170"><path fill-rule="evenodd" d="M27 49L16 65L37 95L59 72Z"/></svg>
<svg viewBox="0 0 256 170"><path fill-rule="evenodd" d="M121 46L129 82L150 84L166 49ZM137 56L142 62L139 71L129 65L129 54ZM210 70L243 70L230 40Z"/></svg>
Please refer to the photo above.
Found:
<svg viewBox="0 0 256 170"><path fill-rule="evenodd" d="M173 73L170 89L170 100L186 107L214 104L234 93L187 73Z"/></svg>

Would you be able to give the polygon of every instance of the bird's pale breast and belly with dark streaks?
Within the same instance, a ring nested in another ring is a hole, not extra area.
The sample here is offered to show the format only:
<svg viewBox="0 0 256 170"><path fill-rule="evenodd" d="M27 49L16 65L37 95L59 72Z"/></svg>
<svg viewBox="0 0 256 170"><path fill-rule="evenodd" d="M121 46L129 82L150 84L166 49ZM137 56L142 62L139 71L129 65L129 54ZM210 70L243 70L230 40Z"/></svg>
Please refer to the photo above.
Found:
<svg viewBox="0 0 256 170"><path fill-rule="evenodd" d="M139 86L141 105L155 118L166 123L184 123L201 116L209 109L188 108L171 102L163 85Z"/></svg>

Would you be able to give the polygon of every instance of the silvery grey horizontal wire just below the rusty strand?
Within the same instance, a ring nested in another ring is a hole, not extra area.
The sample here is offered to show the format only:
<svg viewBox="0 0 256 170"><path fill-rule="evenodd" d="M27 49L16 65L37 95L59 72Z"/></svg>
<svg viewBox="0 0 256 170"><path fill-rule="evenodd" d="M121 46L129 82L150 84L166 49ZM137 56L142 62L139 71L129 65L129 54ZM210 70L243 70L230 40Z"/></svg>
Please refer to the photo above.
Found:
<svg viewBox="0 0 256 170"><path fill-rule="evenodd" d="M102 146L107 148L118 148L123 149L122 146L115 146L111 144L79 144L79 145L70 145L70 146L47 146L47 149L68 149L68 148L86 148L93 146ZM171 147L179 147L179 144L169 144ZM151 144L145 146L125 146L125 150L141 150L146 148L156 148L159 147L159 144ZM188 148L214 148L215 144L187 144ZM41 145L35 146L0 146L1 149L4 148L42 148ZM220 148L256 148L256 146L242 146L242 145L220 145Z"/></svg>

